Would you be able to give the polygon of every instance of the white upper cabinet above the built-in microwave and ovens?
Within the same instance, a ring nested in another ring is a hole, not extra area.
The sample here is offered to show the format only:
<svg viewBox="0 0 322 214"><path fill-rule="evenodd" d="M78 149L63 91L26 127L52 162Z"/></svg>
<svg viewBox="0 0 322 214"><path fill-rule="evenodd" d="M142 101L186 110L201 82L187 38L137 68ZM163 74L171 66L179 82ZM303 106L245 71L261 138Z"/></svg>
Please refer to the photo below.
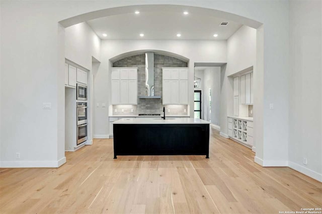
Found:
<svg viewBox="0 0 322 214"><path fill-rule="evenodd" d="M76 88L77 83L87 85L87 72L71 64L65 63L65 86Z"/></svg>

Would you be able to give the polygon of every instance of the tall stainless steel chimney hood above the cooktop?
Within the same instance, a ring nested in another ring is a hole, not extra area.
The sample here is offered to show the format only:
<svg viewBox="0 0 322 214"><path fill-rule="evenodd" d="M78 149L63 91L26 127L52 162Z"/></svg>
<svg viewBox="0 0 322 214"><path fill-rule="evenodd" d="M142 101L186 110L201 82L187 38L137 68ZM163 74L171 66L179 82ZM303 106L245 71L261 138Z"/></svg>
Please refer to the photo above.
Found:
<svg viewBox="0 0 322 214"><path fill-rule="evenodd" d="M145 96L139 98L161 98L154 96L154 53L145 53Z"/></svg>

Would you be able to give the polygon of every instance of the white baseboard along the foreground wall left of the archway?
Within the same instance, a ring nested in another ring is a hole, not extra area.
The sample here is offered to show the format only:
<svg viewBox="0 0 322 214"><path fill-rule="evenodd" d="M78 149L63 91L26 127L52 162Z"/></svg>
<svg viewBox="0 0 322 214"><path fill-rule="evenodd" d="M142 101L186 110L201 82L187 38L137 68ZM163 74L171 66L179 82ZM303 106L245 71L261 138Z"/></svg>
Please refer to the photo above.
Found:
<svg viewBox="0 0 322 214"><path fill-rule="evenodd" d="M0 168L58 168L64 163L65 157L58 161L1 161Z"/></svg>

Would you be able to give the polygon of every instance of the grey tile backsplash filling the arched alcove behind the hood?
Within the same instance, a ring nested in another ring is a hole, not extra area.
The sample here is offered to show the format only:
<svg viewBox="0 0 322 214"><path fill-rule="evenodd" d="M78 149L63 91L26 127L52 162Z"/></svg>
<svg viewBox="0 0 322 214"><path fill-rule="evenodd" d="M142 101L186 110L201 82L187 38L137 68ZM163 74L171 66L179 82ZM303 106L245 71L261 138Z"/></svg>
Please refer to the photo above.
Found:
<svg viewBox="0 0 322 214"><path fill-rule="evenodd" d="M138 96L145 95L145 54L126 57L113 63L113 67L138 67ZM187 62L180 59L154 54L154 96L161 99L138 99L135 105L113 105L113 115L162 114L162 67L187 67ZM166 105L168 115L187 115L187 105ZM117 112L115 112L117 109ZM122 112L122 109L124 109ZM131 112L133 109L133 112Z"/></svg>

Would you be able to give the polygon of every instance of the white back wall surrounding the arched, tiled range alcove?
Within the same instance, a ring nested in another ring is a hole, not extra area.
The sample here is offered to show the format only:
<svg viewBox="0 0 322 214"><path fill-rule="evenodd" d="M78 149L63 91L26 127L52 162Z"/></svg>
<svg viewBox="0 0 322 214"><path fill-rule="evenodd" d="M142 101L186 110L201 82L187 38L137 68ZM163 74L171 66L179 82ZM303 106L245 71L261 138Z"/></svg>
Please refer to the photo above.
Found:
<svg viewBox="0 0 322 214"><path fill-rule="evenodd" d="M108 108L110 104L109 59L134 50L162 50L189 58L189 103L193 106L193 81L195 62L226 62L226 41L224 40L102 40L101 66L95 76L95 100L100 107L95 111L94 135L108 135ZM193 107L190 108L193 117Z"/></svg>

